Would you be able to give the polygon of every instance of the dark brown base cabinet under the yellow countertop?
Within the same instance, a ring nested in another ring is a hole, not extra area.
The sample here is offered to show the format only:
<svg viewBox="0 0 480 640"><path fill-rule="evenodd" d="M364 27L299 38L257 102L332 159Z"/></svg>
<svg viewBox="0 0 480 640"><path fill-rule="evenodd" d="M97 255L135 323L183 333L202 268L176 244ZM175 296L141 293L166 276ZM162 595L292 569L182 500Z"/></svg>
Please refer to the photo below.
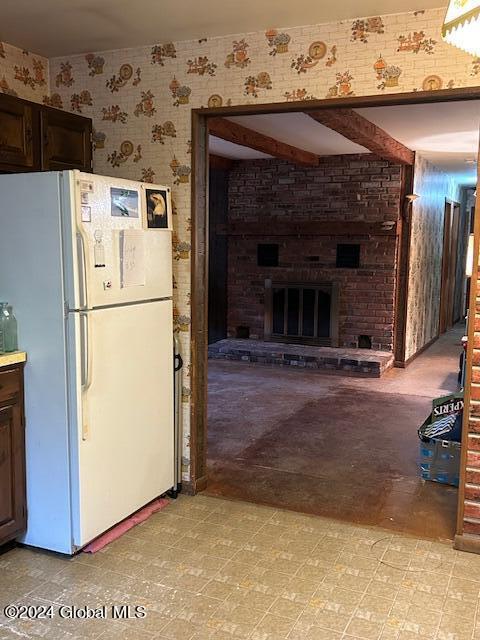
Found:
<svg viewBox="0 0 480 640"><path fill-rule="evenodd" d="M0 369L0 545L27 524L23 364Z"/></svg>

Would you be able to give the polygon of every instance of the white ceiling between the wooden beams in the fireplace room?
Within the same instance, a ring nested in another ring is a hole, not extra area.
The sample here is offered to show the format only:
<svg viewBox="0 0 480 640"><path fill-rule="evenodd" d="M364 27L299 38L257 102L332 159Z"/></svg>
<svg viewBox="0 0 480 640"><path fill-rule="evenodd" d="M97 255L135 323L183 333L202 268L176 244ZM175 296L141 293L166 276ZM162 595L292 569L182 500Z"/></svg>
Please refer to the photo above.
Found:
<svg viewBox="0 0 480 640"><path fill-rule="evenodd" d="M387 131L461 184L476 182L479 148L480 102L369 107L361 115ZM319 124L304 113L262 114L229 118L245 127L312 151L318 155L366 153L367 150ZM218 138L210 138L210 150L227 158L248 159L265 154Z"/></svg>

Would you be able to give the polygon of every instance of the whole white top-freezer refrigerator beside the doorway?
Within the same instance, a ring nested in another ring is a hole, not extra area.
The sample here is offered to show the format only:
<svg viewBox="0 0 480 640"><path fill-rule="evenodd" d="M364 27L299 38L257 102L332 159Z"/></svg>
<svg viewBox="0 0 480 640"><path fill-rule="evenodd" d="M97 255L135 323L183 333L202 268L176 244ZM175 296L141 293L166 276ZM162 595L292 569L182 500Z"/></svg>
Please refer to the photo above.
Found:
<svg viewBox="0 0 480 640"><path fill-rule="evenodd" d="M21 541L72 554L174 484L169 188L1 175L0 299L28 358Z"/></svg>

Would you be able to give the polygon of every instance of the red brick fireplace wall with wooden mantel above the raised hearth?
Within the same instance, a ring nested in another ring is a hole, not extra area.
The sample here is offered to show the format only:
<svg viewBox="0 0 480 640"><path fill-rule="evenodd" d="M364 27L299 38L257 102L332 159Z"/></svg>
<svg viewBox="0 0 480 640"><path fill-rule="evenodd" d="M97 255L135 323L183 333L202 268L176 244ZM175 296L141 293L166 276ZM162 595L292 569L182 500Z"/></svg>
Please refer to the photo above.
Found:
<svg viewBox="0 0 480 640"><path fill-rule="evenodd" d="M372 154L237 162L223 227L228 337L391 351L400 194L400 165Z"/></svg>

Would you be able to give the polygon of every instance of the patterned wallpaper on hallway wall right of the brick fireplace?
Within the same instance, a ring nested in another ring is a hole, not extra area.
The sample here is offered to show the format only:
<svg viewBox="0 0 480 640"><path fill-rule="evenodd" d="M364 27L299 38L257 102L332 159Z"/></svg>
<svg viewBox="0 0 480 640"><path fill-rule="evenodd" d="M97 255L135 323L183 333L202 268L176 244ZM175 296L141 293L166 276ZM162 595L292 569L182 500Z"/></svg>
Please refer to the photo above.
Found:
<svg viewBox="0 0 480 640"><path fill-rule="evenodd" d="M460 190L445 173L417 153L412 244L408 282L406 357L437 335L442 277L445 198L460 201Z"/></svg>

